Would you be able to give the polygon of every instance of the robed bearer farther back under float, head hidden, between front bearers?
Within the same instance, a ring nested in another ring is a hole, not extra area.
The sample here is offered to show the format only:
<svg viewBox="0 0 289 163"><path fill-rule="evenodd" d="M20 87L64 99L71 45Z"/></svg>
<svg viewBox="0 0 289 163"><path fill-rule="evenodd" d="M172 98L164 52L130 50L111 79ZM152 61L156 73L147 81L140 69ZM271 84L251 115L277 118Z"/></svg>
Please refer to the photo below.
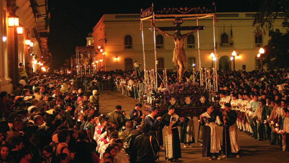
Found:
<svg viewBox="0 0 289 163"><path fill-rule="evenodd" d="M191 144L195 143L195 128L194 117L186 117L181 124L181 143L184 144L183 148L192 147Z"/></svg>

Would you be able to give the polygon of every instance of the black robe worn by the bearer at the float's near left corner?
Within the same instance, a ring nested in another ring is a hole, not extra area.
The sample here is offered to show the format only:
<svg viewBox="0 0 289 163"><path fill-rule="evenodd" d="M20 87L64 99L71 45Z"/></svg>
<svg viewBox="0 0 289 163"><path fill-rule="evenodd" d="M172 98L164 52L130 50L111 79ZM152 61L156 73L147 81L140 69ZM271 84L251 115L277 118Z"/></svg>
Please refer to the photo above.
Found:
<svg viewBox="0 0 289 163"><path fill-rule="evenodd" d="M171 115L168 113L164 114L162 117L162 123L166 126L170 125L171 122ZM181 121L178 120L175 124L172 125L172 136L173 136L173 160L181 158L181 142L180 142L180 135L177 126L181 126ZM166 158L167 159L167 158Z"/></svg>

